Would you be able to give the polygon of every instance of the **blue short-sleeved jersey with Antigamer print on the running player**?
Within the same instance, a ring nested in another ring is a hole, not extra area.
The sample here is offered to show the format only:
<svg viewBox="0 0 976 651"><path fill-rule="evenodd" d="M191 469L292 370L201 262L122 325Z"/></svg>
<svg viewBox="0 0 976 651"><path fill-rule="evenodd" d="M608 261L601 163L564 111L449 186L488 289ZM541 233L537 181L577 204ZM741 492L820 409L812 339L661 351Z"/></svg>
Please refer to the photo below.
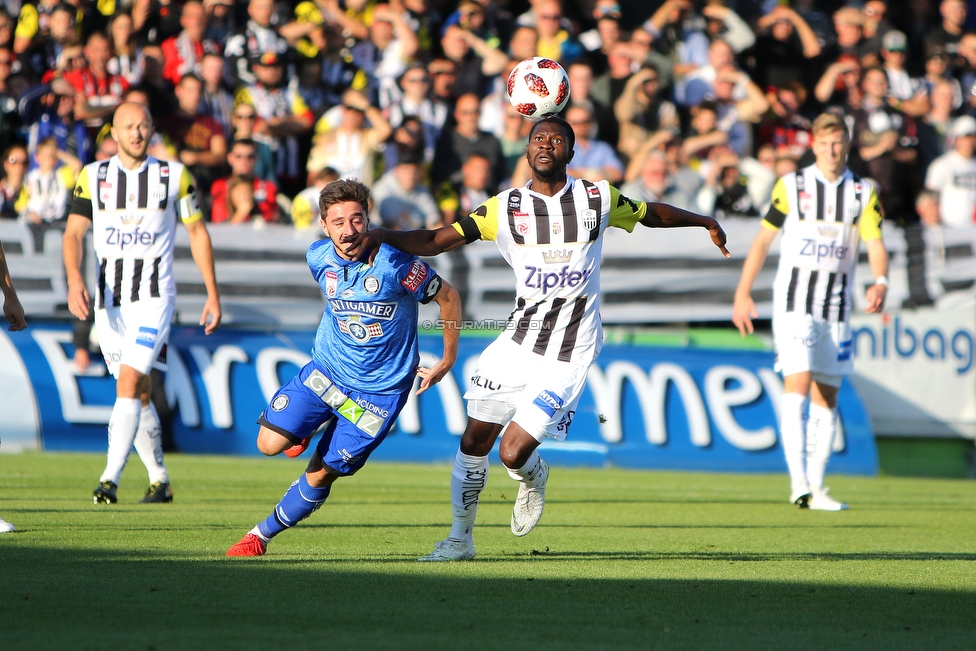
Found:
<svg viewBox="0 0 976 651"><path fill-rule="evenodd" d="M369 393L408 390L420 360L417 302L441 287L434 270L386 244L373 266L340 258L331 240L314 243L305 259L327 302L312 349L316 366Z"/></svg>

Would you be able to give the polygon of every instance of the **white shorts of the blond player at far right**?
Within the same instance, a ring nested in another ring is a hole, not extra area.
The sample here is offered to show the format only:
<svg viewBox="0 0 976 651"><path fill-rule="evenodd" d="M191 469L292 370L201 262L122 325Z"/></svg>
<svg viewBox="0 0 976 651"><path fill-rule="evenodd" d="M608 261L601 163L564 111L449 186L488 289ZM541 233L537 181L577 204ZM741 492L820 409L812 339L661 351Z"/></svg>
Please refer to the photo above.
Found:
<svg viewBox="0 0 976 651"><path fill-rule="evenodd" d="M809 314L773 315L776 370L783 376L813 373L822 384L840 386L854 372L853 341L847 323L814 320Z"/></svg>

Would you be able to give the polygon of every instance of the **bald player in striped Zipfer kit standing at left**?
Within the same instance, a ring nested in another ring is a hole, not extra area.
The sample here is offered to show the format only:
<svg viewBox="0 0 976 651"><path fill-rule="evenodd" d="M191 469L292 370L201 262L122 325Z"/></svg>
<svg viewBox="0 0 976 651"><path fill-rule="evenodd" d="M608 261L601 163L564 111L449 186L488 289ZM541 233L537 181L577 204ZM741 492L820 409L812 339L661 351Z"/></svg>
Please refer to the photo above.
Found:
<svg viewBox="0 0 976 651"><path fill-rule="evenodd" d="M165 369L176 298L172 268L178 220L190 235L190 252L207 288L200 325L207 334L220 325L213 250L194 198L193 178L181 163L146 154L153 131L148 108L134 102L119 106L112 124L119 152L82 170L64 232L68 309L84 320L90 304L80 271L81 251L92 226L99 261L95 330L116 379L108 460L94 492L96 504L117 501L119 477L133 444L149 471L150 485L142 501L173 499L163 466L159 418L149 401L149 371Z"/></svg>

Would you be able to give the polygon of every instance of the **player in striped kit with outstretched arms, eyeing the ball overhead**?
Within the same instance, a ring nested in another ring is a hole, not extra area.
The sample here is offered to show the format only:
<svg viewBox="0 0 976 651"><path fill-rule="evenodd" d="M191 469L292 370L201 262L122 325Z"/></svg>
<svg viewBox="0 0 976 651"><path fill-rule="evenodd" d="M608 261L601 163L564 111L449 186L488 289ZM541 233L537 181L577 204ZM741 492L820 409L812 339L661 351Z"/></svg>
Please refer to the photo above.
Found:
<svg viewBox="0 0 976 651"><path fill-rule="evenodd" d="M474 558L478 499L488 453L507 425L500 456L520 482L512 533L524 536L542 517L549 467L536 448L563 440L590 365L603 344L600 259L610 226L700 226L726 257L725 232L711 217L661 203L634 202L606 181L567 176L572 127L543 118L529 134L532 178L492 197L458 223L434 231L381 229L350 242L353 254L381 242L415 255L437 255L476 240L493 240L516 275L517 302L508 327L482 353L468 400L468 425L451 479L451 533L422 561Z"/></svg>

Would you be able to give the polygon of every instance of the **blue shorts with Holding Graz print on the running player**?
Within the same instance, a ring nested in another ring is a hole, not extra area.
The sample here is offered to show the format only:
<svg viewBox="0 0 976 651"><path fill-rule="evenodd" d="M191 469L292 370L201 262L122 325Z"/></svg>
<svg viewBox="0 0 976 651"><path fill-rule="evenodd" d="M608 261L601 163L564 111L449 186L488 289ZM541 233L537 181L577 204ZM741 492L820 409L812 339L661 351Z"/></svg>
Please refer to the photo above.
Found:
<svg viewBox="0 0 976 651"><path fill-rule="evenodd" d="M295 443L326 423L316 448L322 463L331 473L351 475L386 438L409 395L409 388L376 394L340 386L309 362L278 389L258 423Z"/></svg>

